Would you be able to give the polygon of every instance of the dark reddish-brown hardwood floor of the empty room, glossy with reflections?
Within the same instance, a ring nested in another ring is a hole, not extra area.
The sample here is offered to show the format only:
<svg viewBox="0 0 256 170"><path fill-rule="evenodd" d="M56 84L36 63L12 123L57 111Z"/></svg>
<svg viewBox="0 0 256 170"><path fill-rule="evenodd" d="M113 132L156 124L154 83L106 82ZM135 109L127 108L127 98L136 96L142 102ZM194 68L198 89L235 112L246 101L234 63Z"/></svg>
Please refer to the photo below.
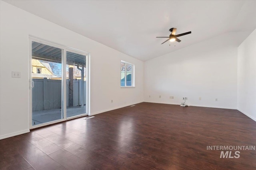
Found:
<svg viewBox="0 0 256 170"><path fill-rule="evenodd" d="M207 150L217 145L256 145L256 122L232 109L140 103L0 140L0 169L256 169L256 150L220 158Z"/></svg>

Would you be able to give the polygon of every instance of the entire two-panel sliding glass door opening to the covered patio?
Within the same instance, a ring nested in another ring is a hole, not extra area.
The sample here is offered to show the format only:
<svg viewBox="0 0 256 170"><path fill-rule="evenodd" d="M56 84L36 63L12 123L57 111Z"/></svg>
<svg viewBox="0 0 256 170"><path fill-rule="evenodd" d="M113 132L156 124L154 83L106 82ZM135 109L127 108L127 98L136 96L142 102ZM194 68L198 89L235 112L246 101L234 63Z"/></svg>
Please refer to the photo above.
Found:
<svg viewBox="0 0 256 170"><path fill-rule="evenodd" d="M30 39L30 128L86 115L87 53Z"/></svg>

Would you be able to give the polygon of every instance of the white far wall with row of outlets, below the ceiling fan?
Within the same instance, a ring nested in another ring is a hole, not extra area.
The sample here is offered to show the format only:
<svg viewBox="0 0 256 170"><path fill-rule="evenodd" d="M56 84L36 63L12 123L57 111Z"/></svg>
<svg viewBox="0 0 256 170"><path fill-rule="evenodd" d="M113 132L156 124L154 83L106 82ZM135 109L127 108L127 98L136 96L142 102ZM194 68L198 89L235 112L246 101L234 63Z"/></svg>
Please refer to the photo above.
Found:
<svg viewBox="0 0 256 170"><path fill-rule="evenodd" d="M187 97L190 106L236 109L237 47L248 34L225 33L146 61L144 100L181 104Z"/></svg>

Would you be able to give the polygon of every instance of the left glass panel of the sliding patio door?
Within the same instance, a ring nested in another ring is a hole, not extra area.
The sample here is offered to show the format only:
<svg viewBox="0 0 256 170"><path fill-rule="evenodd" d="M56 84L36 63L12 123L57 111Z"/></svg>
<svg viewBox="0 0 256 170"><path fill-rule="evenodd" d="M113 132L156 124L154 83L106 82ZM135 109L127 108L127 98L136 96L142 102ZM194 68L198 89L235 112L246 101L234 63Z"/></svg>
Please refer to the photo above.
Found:
<svg viewBox="0 0 256 170"><path fill-rule="evenodd" d="M32 125L63 118L62 49L32 41Z"/></svg>

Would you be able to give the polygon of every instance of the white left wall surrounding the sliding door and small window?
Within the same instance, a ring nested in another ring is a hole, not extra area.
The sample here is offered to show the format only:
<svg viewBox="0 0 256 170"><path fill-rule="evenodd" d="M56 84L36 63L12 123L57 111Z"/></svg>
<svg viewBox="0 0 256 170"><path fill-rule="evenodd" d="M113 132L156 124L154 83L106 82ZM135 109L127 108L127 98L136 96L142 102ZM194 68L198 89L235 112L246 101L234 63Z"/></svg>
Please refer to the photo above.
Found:
<svg viewBox="0 0 256 170"><path fill-rule="evenodd" d="M0 1L0 138L28 132L28 37L89 52L91 115L143 102L142 61ZM120 61L135 64L136 88L120 88ZM20 71L21 78L12 78ZM113 103L111 103L113 100Z"/></svg>

